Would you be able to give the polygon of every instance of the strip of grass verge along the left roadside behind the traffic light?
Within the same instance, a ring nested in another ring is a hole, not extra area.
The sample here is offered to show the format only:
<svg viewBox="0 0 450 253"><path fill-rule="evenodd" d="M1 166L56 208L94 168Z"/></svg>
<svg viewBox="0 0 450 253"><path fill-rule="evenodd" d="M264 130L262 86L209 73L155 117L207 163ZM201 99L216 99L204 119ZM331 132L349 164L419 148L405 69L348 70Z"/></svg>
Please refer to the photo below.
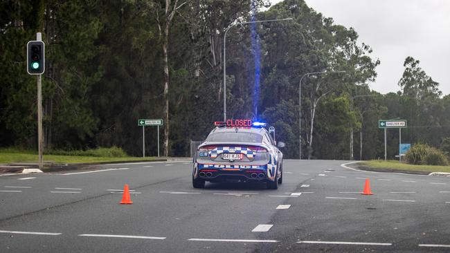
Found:
<svg viewBox="0 0 450 253"><path fill-rule="evenodd" d="M0 163L8 164L11 162L38 162L37 152L17 149L0 149ZM95 162L118 162L118 161L140 161L154 160L155 157L138 158L132 156L67 156L60 154L44 154L44 162L53 163L95 163Z"/></svg>

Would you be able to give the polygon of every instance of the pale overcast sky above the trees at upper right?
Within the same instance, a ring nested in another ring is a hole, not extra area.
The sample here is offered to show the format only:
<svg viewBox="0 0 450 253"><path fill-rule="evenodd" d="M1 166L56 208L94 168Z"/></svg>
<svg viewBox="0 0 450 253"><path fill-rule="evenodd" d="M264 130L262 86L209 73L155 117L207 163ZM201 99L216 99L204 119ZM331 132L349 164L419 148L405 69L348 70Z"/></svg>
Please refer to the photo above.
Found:
<svg viewBox="0 0 450 253"><path fill-rule="evenodd" d="M281 0L271 0L278 3ZM420 67L450 94L450 1L448 0L305 0L308 6L336 24L354 28L359 43L372 47L379 58L377 80L370 88L381 93L399 91L404 59L420 60Z"/></svg>

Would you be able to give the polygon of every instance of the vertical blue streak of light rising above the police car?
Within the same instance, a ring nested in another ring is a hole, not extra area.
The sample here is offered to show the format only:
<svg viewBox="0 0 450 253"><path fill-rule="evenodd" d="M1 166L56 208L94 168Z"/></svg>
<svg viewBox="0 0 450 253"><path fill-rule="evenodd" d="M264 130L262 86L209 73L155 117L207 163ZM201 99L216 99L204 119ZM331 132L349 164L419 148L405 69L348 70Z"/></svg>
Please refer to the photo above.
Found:
<svg viewBox="0 0 450 253"><path fill-rule="evenodd" d="M256 3L251 1L251 21L256 21ZM261 48L258 40L258 33L256 32L256 24L250 24L251 30L251 50L253 52L253 62L255 63L255 89L253 91L253 114L254 120L258 120L258 102L260 98L260 64L261 64Z"/></svg>

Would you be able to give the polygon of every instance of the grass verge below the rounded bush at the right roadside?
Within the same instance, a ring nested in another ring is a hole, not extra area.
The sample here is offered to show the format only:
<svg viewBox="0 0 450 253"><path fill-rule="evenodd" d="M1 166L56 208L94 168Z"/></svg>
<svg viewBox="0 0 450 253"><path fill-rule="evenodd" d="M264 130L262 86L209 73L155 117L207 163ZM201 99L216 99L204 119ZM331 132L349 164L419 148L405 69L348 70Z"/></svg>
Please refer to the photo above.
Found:
<svg viewBox="0 0 450 253"><path fill-rule="evenodd" d="M392 169L398 171L450 172L450 166L408 165L405 163L399 163L396 160L369 160L358 162L358 165L372 169Z"/></svg>

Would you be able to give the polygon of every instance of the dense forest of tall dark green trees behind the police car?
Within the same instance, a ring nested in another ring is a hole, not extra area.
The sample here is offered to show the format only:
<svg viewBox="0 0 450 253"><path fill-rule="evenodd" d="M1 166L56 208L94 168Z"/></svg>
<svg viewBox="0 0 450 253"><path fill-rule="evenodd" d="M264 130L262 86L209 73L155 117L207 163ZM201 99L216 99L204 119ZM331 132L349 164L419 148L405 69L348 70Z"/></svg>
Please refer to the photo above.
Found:
<svg viewBox="0 0 450 253"><path fill-rule="evenodd" d="M242 22L291 19L237 25ZM233 27L231 27L233 26ZM224 91L224 33L226 91ZM378 120L408 120L402 142L440 147L450 97L405 55L397 93L370 89L372 48L303 0L3 0L0 3L0 146L37 147L36 79L26 43L42 32L45 149L117 146L142 153L140 118L163 119L165 156L190 156L213 122L264 120L298 158L384 158ZM374 48L376 50L376 48ZM345 73L333 73L345 71ZM373 86L373 84L372 84ZM156 129L145 128L156 156ZM399 133L388 130L388 158Z"/></svg>

